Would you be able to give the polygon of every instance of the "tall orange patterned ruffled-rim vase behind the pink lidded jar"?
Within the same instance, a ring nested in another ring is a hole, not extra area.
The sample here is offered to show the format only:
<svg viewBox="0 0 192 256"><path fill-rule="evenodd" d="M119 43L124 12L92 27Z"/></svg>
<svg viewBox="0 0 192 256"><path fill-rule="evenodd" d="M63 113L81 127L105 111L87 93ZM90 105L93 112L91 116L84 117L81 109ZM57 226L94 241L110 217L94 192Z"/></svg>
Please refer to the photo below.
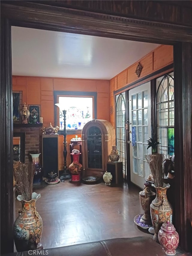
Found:
<svg viewBox="0 0 192 256"><path fill-rule="evenodd" d="M161 225L167 221L172 223L173 208L167 200L167 189L170 188L170 184L164 183L163 187L155 187L154 184L152 186L156 189L156 197L150 204L150 213L155 232L153 239L158 242Z"/></svg>

